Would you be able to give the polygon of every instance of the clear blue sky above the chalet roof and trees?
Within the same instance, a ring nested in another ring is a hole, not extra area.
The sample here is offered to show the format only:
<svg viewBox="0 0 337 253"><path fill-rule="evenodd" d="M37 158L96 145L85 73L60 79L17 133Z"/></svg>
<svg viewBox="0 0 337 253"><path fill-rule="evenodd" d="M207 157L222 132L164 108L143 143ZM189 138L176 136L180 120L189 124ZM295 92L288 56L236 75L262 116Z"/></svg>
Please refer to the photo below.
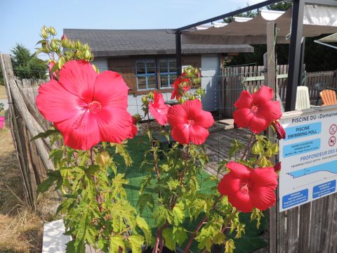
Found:
<svg viewBox="0 0 337 253"><path fill-rule="evenodd" d="M0 52L33 53L43 25L63 28L178 28L263 0L0 0Z"/></svg>

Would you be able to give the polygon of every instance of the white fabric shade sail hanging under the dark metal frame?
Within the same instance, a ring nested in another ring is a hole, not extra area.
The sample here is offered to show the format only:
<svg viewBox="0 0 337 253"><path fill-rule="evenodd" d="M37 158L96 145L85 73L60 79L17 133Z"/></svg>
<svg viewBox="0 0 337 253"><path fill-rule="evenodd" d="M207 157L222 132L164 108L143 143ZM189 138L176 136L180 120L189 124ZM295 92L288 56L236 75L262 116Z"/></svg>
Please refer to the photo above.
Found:
<svg viewBox="0 0 337 253"><path fill-rule="evenodd" d="M289 44L291 8L287 11L262 10L255 18L238 18L228 24L196 27L183 31L184 44L266 44L267 22L277 27L277 43ZM305 5L303 37L337 32L337 7Z"/></svg>

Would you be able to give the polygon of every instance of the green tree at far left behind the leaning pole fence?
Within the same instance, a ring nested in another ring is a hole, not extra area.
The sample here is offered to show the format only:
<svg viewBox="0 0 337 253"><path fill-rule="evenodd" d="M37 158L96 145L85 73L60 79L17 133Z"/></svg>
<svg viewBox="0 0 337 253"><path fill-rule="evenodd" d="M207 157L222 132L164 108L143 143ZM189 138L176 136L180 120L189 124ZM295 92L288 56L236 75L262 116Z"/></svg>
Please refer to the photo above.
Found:
<svg viewBox="0 0 337 253"><path fill-rule="evenodd" d="M47 65L44 60L32 56L25 46L17 44L11 52L13 71L20 79L46 79Z"/></svg>

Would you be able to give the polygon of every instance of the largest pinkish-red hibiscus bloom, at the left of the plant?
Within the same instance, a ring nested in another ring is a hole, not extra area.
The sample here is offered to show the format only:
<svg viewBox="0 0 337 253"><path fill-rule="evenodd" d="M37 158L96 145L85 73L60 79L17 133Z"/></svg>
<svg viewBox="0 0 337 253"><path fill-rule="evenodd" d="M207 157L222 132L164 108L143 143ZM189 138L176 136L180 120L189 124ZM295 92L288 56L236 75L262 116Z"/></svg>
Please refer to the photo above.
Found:
<svg viewBox="0 0 337 253"><path fill-rule="evenodd" d="M128 86L116 72L97 74L90 63L70 60L59 79L42 84L37 108L54 122L65 145L88 150L100 141L120 143L131 131Z"/></svg>

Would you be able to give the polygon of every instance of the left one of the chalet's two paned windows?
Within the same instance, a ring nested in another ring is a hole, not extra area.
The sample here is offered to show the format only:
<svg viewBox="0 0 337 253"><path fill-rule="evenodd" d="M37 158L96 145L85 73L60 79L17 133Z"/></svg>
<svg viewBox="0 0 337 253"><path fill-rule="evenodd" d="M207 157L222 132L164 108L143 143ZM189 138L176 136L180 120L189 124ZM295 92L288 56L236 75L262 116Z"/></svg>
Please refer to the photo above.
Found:
<svg viewBox="0 0 337 253"><path fill-rule="evenodd" d="M157 89L157 66L155 60L137 60L136 76L138 91Z"/></svg>

